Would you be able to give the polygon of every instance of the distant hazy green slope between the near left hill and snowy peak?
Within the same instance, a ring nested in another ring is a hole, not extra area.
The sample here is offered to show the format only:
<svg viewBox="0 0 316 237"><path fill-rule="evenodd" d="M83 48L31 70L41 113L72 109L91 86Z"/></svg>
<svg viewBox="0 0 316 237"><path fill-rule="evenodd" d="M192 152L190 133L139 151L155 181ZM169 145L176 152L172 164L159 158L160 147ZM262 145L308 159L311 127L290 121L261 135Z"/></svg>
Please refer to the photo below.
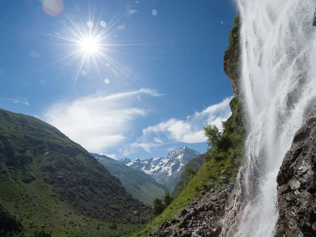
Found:
<svg viewBox="0 0 316 237"><path fill-rule="evenodd" d="M90 153L103 164L106 169L120 180L127 191L146 204L152 204L155 197L162 197L168 188L151 178L148 174L128 167L106 155Z"/></svg>

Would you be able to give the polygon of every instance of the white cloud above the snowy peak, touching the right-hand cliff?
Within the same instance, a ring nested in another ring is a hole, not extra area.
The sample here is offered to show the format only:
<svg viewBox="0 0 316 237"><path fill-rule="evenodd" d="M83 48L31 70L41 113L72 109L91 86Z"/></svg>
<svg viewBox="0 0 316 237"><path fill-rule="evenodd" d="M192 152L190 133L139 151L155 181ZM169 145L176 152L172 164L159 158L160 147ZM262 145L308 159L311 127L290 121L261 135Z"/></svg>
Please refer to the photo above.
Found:
<svg viewBox="0 0 316 237"><path fill-rule="evenodd" d="M164 143L164 139L161 139L163 136L167 139L167 143L206 142L203 127L207 124L213 124L221 129L222 121L226 121L231 115L229 102L232 98L226 98L219 104L211 105L201 112L195 112L193 115L187 116L186 120L173 118L143 129L143 136L138 138L135 143L129 144L129 152L133 152L131 147L134 150L135 148L143 148L145 151L150 152L151 149ZM141 144L146 144L146 146Z"/></svg>

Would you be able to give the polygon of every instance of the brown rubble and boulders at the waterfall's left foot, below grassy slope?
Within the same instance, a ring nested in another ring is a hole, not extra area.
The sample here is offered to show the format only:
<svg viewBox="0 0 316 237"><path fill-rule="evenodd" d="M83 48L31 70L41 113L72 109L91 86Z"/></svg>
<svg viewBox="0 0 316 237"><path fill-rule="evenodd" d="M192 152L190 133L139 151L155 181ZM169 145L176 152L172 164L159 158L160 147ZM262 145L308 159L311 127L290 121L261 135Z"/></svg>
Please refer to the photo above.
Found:
<svg viewBox="0 0 316 237"><path fill-rule="evenodd" d="M228 191L232 191L232 187ZM202 191L179 216L174 216L170 222L162 222L154 236L218 237L225 218L228 198L225 194L213 189Z"/></svg>

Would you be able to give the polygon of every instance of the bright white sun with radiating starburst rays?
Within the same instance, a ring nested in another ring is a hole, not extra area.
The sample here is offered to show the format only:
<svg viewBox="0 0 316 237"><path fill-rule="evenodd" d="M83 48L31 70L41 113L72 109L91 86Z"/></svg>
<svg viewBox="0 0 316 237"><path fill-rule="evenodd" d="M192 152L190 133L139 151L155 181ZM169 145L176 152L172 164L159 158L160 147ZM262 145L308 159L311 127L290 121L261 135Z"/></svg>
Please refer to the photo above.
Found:
<svg viewBox="0 0 316 237"><path fill-rule="evenodd" d="M109 43L109 38L114 35L115 24L119 20L112 19L109 23L106 23L101 19L103 11L100 12L99 18L95 21L94 14L91 14L91 4L89 3L89 20L84 24L81 15L77 11L78 20L74 17L70 17L64 12L68 23L64 23L63 33L44 33L48 36L57 38L61 43L54 44L55 46L67 46L69 50L63 57L59 58L52 64L56 64L65 59L69 59L68 64L77 62L77 67L74 72L74 84L75 86L80 72L85 67L88 71L94 70L103 83L102 75L104 71L111 72L115 76L119 76L119 73L128 76L130 71L113 58L113 54L121 53L113 47L117 46L141 46L147 44L118 44ZM113 28L114 27L114 28ZM64 42L62 42L64 41ZM79 62L78 62L79 61ZM52 65L50 64L50 65ZM93 66L93 69L91 68ZM118 72L119 71L119 72ZM82 75L86 75L86 72ZM108 84L108 80L107 83Z"/></svg>

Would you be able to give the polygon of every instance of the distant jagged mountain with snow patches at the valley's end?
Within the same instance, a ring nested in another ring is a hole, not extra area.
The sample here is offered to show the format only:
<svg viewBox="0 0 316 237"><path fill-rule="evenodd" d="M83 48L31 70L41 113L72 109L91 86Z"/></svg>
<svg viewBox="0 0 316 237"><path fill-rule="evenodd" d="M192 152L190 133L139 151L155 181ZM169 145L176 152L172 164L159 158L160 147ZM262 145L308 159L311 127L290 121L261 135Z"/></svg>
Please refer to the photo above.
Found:
<svg viewBox="0 0 316 237"><path fill-rule="evenodd" d="M178 183L181 173L185 169L185 164L193 158L201 155L199 152L181 147L180 149L170 151L167 156L150 158L141 161L136 158L134 161L124 158L119 162L152 176L158 183L166 185L173 191Z"/></svg>

